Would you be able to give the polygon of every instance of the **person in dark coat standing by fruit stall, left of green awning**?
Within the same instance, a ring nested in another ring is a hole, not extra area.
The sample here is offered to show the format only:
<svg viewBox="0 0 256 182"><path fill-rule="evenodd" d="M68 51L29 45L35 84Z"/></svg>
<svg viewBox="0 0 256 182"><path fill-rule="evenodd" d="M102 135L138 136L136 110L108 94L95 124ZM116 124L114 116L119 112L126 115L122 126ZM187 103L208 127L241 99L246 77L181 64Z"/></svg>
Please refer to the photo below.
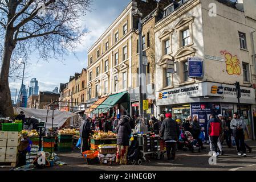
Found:
<svg viewBox="0 0 256 182"><path fill-rule="evenodd" d="M90 150L90 147L88 146L88 139L90 137L90 134L92 134L91 120L92 118L89 117L85 121L83 121L81 125L81 129L80 129L81 154L84 151Z"/></svg>

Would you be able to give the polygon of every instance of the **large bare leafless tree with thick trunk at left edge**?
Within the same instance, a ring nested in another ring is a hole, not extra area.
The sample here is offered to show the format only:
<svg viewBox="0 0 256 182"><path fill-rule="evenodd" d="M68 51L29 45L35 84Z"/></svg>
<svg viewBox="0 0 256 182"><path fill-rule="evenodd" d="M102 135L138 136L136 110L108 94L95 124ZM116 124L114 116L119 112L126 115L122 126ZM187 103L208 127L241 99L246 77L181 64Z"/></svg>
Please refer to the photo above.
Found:
<svg viewBox="0 0 256 182"><path fill-rule="evenodd" d="M3 116L14 114L8 78L10 71L17 66L15 61L24 60L35 51L43 60L63 60L63 56L74 50L79 38L86 33L79 18L90 10L91 2L0 0L0 112Z"/></svg>

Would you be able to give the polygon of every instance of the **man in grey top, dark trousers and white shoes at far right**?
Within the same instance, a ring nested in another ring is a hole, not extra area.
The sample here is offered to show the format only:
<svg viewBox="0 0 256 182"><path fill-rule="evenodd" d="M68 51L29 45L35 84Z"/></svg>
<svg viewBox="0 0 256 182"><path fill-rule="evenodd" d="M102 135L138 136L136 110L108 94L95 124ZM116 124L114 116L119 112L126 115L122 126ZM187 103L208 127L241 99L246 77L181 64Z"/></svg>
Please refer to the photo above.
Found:
<svg viewBox="0 0 256 182"><path fill-rule="evenodd" d="M233 117L234 118L230 123L230 128L233 130L233 137L235 138L235 145L237 146L237 155L247 156L244 134L245 123L243 122L243 119L239 118L238 113L234 113ZM241 154L241 151L243 154Z"/></svg>

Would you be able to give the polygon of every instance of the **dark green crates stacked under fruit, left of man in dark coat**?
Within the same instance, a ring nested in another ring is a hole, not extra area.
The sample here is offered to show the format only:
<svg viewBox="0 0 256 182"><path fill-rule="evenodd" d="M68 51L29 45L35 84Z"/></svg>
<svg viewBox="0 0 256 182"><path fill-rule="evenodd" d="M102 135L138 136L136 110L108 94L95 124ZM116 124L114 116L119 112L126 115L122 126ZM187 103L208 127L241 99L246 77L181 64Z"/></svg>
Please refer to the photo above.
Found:
<svg viewBox="0 0 256 182"><path fill-rule="evenodd" d="M72 151L72 135L58 135L58 151L70 152Z"/></svg>

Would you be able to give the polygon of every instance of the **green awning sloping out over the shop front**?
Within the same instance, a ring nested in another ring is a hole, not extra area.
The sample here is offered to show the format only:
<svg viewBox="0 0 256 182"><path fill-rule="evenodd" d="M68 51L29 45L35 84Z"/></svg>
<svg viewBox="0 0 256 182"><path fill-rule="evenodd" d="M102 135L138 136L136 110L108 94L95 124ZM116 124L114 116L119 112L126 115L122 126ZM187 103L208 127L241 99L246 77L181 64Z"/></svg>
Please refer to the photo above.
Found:
<svg viewBox="0 0 256 182"><path fill-rule="evenodd" d="M128 92L121 92L108 96L108 98L97 106L97 108L92 112L93 114L107 113L108 109L115 106L123 97L127 95Z"/></svg>

